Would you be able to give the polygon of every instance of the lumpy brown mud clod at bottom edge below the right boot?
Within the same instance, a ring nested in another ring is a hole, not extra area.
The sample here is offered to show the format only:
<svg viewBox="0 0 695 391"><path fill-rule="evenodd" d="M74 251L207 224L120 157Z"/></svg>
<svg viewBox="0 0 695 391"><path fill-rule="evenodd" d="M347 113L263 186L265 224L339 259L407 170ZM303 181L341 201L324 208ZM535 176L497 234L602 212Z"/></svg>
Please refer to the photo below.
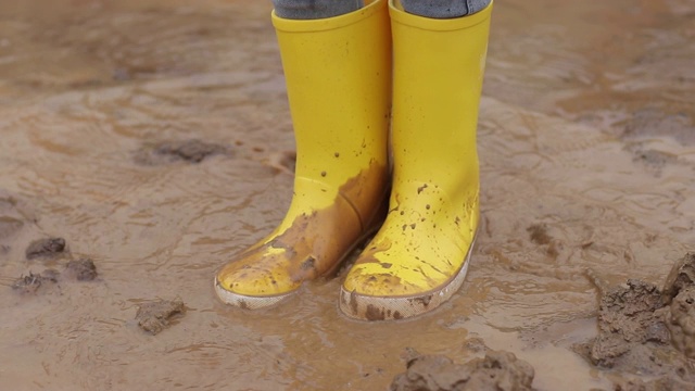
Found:
<svg viewBox="0 0 695 391"><path fill-rule="evenodd" d="M464 365L442 355L418 356L396 375L391 391L525 391L533 390L533 367L513 353L490 351Z"/></svg>

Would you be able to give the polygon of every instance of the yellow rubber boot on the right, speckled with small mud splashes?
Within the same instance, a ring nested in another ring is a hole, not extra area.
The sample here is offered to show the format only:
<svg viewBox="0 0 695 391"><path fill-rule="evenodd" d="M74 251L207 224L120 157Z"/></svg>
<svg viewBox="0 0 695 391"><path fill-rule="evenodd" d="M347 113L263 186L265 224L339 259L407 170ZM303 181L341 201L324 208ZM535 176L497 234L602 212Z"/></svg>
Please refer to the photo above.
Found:
<svg viewBox="0 0 695 391"><path fill-rule="evenodd" d="M491 11L432 20L390 4L393 189L386 223L343 282L350 317L426 313L465 278L479 220L476 126Z"/></svg>

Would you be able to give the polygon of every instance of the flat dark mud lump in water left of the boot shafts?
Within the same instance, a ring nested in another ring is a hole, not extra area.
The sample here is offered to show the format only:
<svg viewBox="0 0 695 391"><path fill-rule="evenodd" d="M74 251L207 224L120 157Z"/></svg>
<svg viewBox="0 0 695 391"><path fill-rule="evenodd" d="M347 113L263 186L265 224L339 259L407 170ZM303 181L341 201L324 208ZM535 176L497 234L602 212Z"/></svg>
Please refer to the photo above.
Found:
<svg viewBox="0 0 695 391"><path fill-rule="evenodd" d="M230 153L228 147L192 139L147 144L136 151L132 159L137 164L147 166L175 162L197 164L211 156Z"/></svg>

